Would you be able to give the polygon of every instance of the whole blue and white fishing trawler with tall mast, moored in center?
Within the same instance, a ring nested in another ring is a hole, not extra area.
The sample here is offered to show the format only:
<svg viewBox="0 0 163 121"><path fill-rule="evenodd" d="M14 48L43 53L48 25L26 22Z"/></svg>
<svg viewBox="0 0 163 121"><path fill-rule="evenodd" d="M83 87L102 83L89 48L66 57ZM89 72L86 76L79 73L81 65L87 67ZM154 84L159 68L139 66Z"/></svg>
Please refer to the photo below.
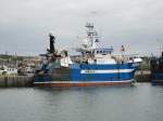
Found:
<svg viewBox="0 0 163 121"><path fill-rule="evenodd" d="M50 49L34 78L36 86L97 86L124 85L134 80L141 58L134 56L114 56L112 46L102 45L93 24L88 23L87 38L76 49L80 54L73 59L66 50L59 52L55 37L50 37ZM122 51L124 46L122 45Z"/></svg>

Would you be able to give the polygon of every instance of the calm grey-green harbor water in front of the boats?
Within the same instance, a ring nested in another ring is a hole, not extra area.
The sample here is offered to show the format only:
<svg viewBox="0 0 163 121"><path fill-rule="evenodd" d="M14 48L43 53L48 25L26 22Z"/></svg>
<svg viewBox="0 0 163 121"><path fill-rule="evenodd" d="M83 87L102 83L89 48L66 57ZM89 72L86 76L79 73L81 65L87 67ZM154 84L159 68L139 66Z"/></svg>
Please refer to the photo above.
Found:
<svg viewBox="0 0 163 121"><path fill-rule="evenodd" d="M0 121L162 121L163 86L0 89Z"/></svg>

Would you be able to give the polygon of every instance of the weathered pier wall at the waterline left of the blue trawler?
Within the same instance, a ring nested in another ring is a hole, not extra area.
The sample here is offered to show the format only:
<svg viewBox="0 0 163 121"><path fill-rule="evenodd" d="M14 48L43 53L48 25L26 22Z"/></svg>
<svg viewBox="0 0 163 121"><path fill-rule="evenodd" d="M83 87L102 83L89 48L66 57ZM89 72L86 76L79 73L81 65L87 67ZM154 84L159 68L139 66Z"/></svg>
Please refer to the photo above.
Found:
<svg viewBox="0 0 163 121"><path fill-rule="evenodd" d="M0 77L0 88L7 86L32 86L33 76L2 76Z"/></svg>

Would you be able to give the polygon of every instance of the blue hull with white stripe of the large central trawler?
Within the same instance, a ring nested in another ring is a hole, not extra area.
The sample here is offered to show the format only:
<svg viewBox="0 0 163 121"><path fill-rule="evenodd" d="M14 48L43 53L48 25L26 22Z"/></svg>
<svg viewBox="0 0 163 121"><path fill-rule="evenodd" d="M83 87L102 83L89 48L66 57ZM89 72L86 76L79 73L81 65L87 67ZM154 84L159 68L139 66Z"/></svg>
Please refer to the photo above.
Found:
<svg viewBox="0 0 163 121"><path fill-rule="evenodd" d="M36 83L130 83L138 65L72 64L70 68L55 68L51 73L36 75Z"/></svg>

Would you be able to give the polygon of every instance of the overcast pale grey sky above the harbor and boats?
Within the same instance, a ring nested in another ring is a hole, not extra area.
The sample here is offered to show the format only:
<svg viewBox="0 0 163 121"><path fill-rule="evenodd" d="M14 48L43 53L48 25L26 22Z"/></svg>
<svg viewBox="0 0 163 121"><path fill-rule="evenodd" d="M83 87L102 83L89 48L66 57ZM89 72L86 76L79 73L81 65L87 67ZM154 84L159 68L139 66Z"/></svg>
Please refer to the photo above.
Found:
<svg viewBox="0 0 163 121"><path fill-rule="evenodd" d="M129 53L158 54L163 0L0 0L0 53L45 53L50 31L59 48L72 50L87 22L116 52L123 44Z"/></svg>

